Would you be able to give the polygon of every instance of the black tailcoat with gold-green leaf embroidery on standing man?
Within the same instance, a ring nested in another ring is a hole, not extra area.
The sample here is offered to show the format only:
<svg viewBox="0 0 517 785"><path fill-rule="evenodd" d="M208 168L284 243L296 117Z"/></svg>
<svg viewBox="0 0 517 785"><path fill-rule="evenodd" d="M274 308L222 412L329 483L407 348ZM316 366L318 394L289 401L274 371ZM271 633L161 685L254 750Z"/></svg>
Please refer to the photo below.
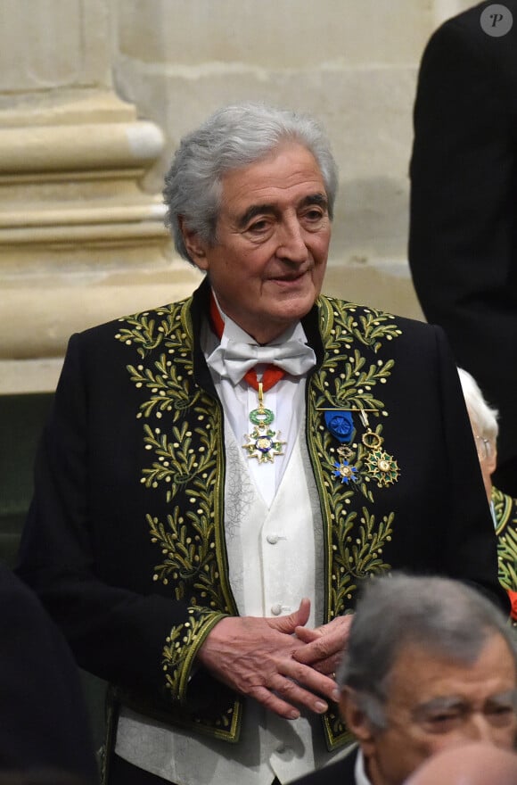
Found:
<svg viewBox="0 0 517 785"><path fill-rule="evenodd" d="M240 698L195 655L237 610L224 528L223 412L190 298L70 339L37 455L19 572L78 662L150 715L238 740ZM324 521L325 618L395 568L498 588L496 541L455 365L438 327L320 297L306 435ZM324 409L351 410L346 476ZM366 410L373 434L362 442ZM341 467L341 468L340 468ZM293 543L292 547L296 547ZM192 677L192 678L191 678ZM329 748L349 740L336 710Z"/></svg>

